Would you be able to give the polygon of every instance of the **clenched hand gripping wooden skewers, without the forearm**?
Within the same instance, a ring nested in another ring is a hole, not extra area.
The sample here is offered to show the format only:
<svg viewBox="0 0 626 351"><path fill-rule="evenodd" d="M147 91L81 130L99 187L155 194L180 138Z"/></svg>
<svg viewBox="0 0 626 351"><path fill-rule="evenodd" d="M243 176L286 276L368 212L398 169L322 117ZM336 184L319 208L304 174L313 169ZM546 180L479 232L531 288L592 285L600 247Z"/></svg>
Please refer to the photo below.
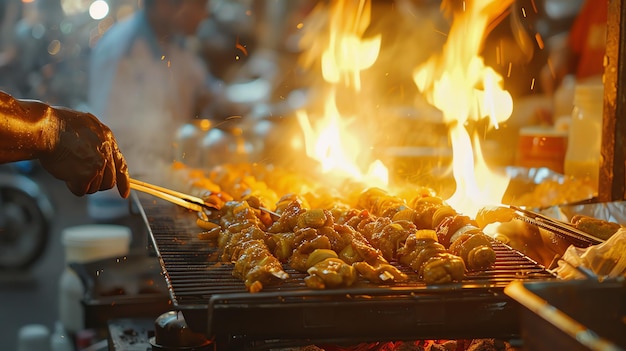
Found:
<svg viewBox="0 0 626 351"><path fill-rule="evenodd" d="M65 181L77 196L107 190L130 193L128 166L111 130L94 115L54 108L58 137L51 152L39 157L50 174Z"/></svg>

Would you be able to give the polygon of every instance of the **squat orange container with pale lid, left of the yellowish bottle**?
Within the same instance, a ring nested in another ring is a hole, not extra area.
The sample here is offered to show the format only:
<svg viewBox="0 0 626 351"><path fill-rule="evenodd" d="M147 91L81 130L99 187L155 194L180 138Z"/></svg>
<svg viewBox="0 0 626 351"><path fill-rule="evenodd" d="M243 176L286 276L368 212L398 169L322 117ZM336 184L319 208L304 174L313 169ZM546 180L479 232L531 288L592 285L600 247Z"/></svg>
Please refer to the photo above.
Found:
<svg viewBox="0 0 626 351"><path fill-rule="evenodd" d="M533 126L520 129L516 164L526 168L546 167L563 173L568 147L567 131Z"/></svg>

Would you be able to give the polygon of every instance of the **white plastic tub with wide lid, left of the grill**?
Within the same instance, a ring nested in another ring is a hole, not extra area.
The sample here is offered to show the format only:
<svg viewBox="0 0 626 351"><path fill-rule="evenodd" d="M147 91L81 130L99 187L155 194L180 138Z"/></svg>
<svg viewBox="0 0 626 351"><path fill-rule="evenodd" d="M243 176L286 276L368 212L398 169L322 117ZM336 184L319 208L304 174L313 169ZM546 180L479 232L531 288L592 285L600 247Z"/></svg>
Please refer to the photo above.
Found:
<svg viewBox="0 0 626 351"><path fill-rule="evenodd" d="M82 225L66 228L62 235L66 264L120 257L129 252L131 231L125 226ZM84 328L84 296L85 287L80 278L66 266L59 278L59 320L69 334Z"/></svg>

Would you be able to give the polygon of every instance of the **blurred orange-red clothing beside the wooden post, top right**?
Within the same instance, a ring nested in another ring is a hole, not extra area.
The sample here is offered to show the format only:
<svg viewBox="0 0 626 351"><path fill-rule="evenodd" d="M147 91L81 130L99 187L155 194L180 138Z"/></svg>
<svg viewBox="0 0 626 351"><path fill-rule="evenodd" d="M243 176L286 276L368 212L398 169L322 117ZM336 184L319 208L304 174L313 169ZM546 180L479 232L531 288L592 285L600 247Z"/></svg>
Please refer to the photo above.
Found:
<svg viewBox="0 0 626 351"><path fill-rule="evenodd" d="M548 64L541 72L542 89L554 93L568 75L577 81L604 74L608 1L585 0L569 34L553 43Z"/></svg>

